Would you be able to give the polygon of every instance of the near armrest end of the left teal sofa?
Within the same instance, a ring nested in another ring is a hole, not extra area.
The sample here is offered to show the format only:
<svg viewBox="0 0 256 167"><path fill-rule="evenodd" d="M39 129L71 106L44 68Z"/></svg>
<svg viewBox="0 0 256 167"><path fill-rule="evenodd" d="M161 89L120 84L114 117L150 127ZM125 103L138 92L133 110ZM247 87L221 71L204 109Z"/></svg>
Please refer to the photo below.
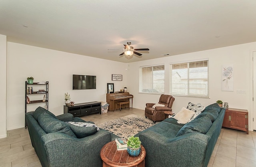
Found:
<svg viewBox="0 0 256 167"><path fill-rule="evenodd" d="M64 133L48 133L42 140L51 166L98 167L102 166L100 150L111 137L108 131L100 130L81 139Z"/></svg>

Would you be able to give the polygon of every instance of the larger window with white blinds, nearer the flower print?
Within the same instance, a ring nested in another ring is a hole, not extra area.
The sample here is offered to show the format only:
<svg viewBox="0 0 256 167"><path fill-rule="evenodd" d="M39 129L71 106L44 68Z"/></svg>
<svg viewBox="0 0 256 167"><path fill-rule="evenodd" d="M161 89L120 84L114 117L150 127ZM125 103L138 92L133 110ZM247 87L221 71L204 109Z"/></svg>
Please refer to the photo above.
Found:
<svg viewBox="0 0 256 167"><path fill-rule="evenodd" d="M170 64L170 94L209 97L209 60Z"/></svg>

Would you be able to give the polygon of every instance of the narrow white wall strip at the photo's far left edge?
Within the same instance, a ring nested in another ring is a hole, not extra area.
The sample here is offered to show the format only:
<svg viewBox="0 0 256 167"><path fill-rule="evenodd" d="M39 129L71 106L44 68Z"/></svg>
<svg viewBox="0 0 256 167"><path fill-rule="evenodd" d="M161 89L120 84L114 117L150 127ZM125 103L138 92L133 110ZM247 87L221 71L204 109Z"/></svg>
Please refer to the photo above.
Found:
<svg viewBox="0 0 256 167"><path fill-rule="evenodd" d="M6 36L0 35L0 138L6 137Z"/></svg>

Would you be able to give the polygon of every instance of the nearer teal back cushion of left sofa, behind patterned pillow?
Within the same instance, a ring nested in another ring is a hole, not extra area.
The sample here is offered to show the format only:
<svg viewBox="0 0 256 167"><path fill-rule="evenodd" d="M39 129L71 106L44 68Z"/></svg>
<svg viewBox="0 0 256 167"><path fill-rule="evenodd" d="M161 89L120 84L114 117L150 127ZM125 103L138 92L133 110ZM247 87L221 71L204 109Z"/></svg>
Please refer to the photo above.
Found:
<svg viewBox="0 0 256 167"><path fill-rule="evenodd" d="M42 113L38 117L38 123L46 133L60 132L77 138L67 123L52 117L48 113Z"/></svg>

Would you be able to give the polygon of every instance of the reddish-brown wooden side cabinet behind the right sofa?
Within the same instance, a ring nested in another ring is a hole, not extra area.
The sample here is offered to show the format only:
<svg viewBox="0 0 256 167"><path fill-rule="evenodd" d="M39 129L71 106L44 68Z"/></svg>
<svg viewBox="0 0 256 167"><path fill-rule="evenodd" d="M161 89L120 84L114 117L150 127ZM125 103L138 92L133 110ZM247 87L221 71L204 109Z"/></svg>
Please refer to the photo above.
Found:
<svg viewBox="0 0 256 167"><path fill-rule="evenodd" d="M236 108L226 109L222 127L246 131L248 134L248 111Z"/></svg>

